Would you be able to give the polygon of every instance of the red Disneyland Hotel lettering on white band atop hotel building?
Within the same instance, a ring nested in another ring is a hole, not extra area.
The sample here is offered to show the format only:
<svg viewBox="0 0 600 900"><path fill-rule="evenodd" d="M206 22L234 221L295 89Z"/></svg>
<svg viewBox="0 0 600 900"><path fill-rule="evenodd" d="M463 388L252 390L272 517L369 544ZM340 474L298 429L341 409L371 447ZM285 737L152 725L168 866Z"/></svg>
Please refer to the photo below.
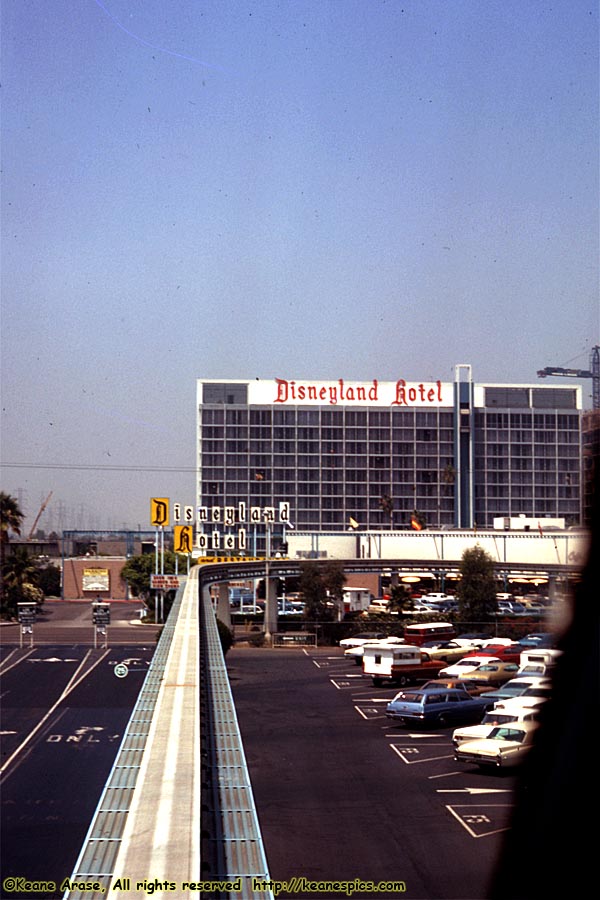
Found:
<svg viewBox="0 0 600 900"><path fill-rule="evenodd" d="M367 384L349 384L343 378L334 382L298 382L275 379L274 403L323 403L336 406L338 403L378 404L385 405L386 398L381 395L393 388L387 403L390 406L443 405L442 382L434 384L407 383L403 378L395 382L381 385L377 379Z"/></svg>

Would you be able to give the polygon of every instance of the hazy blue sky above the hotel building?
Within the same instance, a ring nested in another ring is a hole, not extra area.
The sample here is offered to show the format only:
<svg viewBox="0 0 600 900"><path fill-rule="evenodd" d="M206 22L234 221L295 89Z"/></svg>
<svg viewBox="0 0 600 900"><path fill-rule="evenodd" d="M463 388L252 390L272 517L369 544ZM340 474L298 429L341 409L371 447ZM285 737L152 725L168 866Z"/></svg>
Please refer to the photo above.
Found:
<svg viewBox="0 0 600 900"><path fill-rule="evenodd" d="M598 81L591 0L2 0L3 489L193 502L198 377L587 368Z"/></svg>

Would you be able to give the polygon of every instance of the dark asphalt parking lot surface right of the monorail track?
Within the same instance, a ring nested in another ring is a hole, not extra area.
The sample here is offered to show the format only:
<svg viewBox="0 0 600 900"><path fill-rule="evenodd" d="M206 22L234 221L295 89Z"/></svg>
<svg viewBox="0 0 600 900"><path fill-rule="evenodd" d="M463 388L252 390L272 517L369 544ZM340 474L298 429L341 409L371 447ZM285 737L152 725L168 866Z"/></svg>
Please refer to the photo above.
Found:
<svg viewBox="0 0 600 900"><path fill-rule="evenodd" d="M227 664L272 878L487 895L513 776L457 764L452 728L390 723L397 688L374 688L339 648L239 647Z"/></svg>

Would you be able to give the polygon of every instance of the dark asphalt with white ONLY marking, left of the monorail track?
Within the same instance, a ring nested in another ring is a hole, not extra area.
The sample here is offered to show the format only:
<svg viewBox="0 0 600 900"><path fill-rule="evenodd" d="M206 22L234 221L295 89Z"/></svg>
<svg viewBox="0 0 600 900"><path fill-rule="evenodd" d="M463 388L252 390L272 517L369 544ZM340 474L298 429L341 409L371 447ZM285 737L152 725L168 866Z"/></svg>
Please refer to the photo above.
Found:
<svg viewBox="0 0 600 900"><path fill-rule="evenodd" d="M2 885L25 877L58 887L71 875L153 653L152 641L2 648Z"/></svg>

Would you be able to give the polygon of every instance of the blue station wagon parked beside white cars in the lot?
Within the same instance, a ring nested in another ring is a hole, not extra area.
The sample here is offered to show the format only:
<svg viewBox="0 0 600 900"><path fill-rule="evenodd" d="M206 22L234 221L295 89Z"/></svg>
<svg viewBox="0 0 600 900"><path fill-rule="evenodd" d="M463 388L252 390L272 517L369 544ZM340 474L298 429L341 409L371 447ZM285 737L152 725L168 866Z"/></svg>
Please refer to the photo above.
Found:
<svg viewBox="0 0 600 900"><path fill-rule="evenodd" d="M476 722L491 705L483 695L473 697L464 690L405 690L388 703L386 715L399 725L445 726L453 722Z"/></svg>

